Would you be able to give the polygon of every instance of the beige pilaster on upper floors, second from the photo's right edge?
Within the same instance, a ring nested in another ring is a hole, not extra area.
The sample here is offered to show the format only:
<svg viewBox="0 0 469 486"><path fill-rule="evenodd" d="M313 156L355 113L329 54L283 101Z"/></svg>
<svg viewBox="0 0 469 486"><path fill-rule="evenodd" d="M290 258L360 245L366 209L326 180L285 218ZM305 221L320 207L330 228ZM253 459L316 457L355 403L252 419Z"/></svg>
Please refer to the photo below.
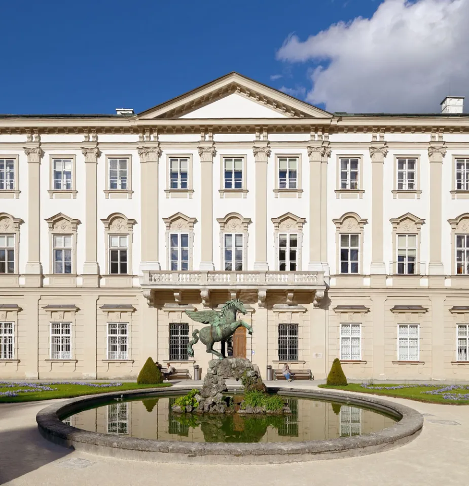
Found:
<svg viewBox="0 0 469 486"><path fill-rule="evenodd" d="M377 283L384 285L386 266L383 258L383 187L384 187L384 157L387 155L386 142L375 142L370 147L371 157L371 275L383 275ZM362 242L363 244L363 242ZM365 271L365 270L364 270ZM366 272L365 272L366 273Z"/></svg>

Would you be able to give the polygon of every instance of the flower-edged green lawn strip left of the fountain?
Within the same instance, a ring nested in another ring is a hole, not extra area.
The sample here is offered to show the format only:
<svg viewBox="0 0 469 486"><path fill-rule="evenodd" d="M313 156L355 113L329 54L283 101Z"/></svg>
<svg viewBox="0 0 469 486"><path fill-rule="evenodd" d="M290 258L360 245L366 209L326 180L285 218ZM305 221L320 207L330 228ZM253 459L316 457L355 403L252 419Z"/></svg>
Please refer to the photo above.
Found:
<svg viewBox="0 0 469 486"><path fill-rule="evenodd" d="M74 398L76 396L109 393L111 391L140 390L171 386L169 383L158 385L139 385L137 383L87 383L87 382L0 382L0 402L20 402L51 400L53 398Z"/></svg>

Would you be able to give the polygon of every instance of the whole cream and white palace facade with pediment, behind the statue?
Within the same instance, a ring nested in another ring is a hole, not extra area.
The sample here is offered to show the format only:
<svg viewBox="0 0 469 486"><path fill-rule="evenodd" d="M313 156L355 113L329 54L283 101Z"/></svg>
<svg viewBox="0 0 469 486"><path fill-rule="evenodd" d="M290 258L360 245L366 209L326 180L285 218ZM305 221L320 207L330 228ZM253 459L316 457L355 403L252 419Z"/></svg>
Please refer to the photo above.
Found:
<svg viewBox="0 0 469 486"><path fill-rule="evenodd" d="M469 116L328 113L231 73L139 114L0 115L0 378L469 379Z"/></svg>

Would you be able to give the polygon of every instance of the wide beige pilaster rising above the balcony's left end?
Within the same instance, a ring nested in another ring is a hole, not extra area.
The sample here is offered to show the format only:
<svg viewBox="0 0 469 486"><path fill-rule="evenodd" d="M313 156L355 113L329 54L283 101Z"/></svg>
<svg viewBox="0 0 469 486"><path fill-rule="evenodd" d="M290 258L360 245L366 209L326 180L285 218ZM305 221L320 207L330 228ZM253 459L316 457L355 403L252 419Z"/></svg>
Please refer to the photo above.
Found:
<svg viewBox="0 0 469 486"><path fill-rule="evenodd" d="M151 146L137 147L137 150L141 180L140 270L161 270L158 258L158 171L161 149L159 142L156 142Z"/></svg>

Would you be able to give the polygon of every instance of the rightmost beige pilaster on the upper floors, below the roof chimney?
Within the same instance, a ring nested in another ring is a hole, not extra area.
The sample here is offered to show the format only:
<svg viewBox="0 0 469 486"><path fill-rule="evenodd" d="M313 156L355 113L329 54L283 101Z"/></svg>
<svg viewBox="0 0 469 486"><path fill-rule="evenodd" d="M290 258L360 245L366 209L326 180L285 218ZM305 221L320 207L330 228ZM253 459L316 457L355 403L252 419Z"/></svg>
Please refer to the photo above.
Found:
<svg viewBox="0 0 469 486"><path fill-rule="evenodd" d="M445 269L441 261L441 205L442 205L442 167L446 147L443 144L428 147L430 160L430 260L428 263L429 275L444 275Z"/></svg>

